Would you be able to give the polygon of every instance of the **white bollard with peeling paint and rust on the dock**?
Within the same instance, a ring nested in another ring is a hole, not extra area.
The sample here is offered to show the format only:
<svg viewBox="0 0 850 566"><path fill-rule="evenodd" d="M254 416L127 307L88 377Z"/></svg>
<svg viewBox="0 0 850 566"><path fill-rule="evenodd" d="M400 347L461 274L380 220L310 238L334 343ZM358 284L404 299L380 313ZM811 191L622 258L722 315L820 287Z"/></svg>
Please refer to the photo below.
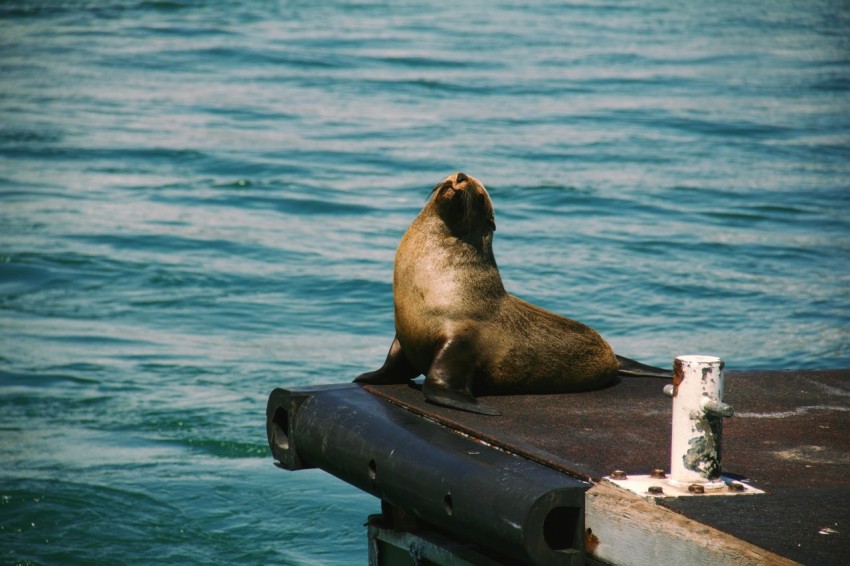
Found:
<svg viewBox="0 0 850 566"><path fill-rule="evenodd" d="M724 487L720 479L723 417L731 417L733 409L723 403L723 360L714 356L677 357L673 384L664 392L673 398L668 481L679 487Z"/></svg>

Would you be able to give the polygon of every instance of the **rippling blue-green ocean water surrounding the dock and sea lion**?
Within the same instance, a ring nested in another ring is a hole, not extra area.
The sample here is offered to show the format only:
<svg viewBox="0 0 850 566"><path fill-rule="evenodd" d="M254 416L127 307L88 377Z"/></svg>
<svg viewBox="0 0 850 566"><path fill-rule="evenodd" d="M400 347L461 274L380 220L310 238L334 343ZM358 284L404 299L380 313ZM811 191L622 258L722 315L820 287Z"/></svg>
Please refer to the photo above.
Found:
<svg viewBox="0 0 850 566"><path fill-rule="evenodd" d="M850 367L846 2L7 0L0 563L364 564L265 402L383 361L458 170L619 353Z"/></svg>

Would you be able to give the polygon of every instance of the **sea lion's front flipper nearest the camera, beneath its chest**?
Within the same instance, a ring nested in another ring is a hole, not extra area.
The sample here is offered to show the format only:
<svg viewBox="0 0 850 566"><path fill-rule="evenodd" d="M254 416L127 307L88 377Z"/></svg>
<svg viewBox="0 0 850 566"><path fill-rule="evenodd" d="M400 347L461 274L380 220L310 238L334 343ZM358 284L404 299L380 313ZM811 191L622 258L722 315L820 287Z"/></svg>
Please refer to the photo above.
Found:
<svg viewBox="0 0 850 566"><path fill-rule="evenodd" d="M425 399L435 405L482 415L501 415L469 392L474 369L473 349L463 340L449 338L437 348L422 384Z"/></svg>

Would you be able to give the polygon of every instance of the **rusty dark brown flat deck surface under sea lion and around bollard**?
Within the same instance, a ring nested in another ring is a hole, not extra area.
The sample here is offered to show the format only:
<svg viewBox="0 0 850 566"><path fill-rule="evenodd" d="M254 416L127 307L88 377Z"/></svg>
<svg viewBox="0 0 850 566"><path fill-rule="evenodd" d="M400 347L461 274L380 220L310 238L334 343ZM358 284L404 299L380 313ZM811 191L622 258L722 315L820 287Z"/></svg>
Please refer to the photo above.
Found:
<svg viewBox="0 0 850 566"><path fill-rule="evenodd" d="M502 416L426 403L409 385L365 386L392 403L583 479L614 469L669 470L664 381L625 378L600 391L487 397ZM723 472L766 495L658 503L804 564L850 563L850 370L728 372Z"/></svg>

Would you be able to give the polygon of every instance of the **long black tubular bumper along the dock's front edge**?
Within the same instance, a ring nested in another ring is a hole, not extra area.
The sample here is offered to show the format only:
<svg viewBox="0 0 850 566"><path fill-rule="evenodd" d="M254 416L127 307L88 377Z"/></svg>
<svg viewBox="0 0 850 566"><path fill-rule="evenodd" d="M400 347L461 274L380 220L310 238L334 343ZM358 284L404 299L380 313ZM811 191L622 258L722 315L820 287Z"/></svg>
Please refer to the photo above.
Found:
<svg viewBox="0 0 850 566"><path fill-rule="evenodd" d="M584 563L589 483L462 436L354 384L275 389L266 427L284 469L321 468L497 556Z"/></svg>

